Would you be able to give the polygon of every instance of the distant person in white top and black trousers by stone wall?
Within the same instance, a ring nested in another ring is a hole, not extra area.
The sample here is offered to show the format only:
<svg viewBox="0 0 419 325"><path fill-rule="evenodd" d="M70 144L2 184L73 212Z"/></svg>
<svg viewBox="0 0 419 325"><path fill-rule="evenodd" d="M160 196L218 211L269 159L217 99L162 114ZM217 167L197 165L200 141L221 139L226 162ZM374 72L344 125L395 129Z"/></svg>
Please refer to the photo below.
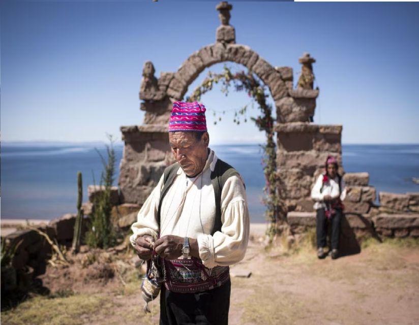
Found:
<svg viewBox="0 0 419 325"><path fill-rule="evenodd" d="M346 197L345 181L338 173L338 161L333 156L327 156L325 173L321 174L311 190L311 198L315 201L314 209L317 212L316 235L317 257L327 256L326 246L327 222L332 223L331 248L332 258L339 255L340 223L343 213L342 201Z"/></svg>

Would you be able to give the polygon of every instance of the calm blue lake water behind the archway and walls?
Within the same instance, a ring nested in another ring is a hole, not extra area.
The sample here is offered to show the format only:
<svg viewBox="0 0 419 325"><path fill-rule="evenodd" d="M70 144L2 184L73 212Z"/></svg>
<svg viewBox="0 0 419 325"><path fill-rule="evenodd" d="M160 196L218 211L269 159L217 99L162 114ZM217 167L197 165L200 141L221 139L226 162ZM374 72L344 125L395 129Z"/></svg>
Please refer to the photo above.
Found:
<svg viewBox="0 0 419 325"><path fill-rule="evenodd" d="M77 171L83 175L83 202L87 185L98 184L102 170L95 148L104 145L9 145L1 147L1 216L16 219L53 219L76 212ZM234 166L246 182L252 222L264 221L262 188L265 184L258 145L216 145L217 155ZM116 167L123 147L115 146ZM419 145L343 145L346 172L368 172L377 191L419 191ZM118 176L115 177L115 184Z"/></svg>

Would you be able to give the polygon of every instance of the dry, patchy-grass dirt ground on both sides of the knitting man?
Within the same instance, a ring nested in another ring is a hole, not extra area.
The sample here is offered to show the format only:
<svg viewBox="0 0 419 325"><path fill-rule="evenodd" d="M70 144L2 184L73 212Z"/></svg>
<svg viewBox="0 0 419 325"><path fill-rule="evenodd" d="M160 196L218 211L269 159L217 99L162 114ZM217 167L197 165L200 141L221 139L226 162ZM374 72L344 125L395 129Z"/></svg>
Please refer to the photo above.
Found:
<svg viewBox="0 0 419 325"><path fill-rule="evenodd" d="M49 297L2 312L2 324L158 324L142 312L132 252L80 254L70 268L48 268ZM104 266L106 265L106 266ZM310 245L265 249L253 240L232 274L230 324L418 324L418 241L364 244L360 254L318 260ZM107 280L107 275L113 278Z"/></svg>

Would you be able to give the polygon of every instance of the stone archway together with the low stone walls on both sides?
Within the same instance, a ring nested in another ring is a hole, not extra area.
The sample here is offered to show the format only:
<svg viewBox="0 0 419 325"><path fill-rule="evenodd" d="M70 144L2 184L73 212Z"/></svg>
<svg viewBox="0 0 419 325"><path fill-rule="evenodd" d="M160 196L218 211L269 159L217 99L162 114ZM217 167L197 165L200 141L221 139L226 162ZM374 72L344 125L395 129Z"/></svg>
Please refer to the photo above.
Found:
<svg viewBox="0 0 419 325"><path fill-rule="evenodd" d="M269 88L275 101L277 123L277 174L280 200L288 214L286 222L292 234L301 234L315 227L315 212L310 199L311 187L323 172L327 155L334 155L342 166L342 125L313 123L319 89L313 89L315 59L304 53L296 89L290 67L273 67L246 45L235 43L235 29L229 24L232 6L221 2L221 25L216 42L192 53L175 72L155 76L151 61L144 63L139 98L145 111L141 125L121 126L125 142L120 163L119 188L112 188L112 221L129 229L149 193L157 185L166 166L173 162L167 134L172 103L184 99L191 83L213 64L232 61L254 72ZM340 173L344 174L343 168ZM344 202L340 245L357 252L359 236L419 237L419 192L395 194L380 192L376 206L376 190L369 185L368 173L346 173L351 188ZM93 208L93 198L103 190L88 188L89 202L83 204L85 215ZM41 226L59 244L71 245L75 215L67 214ZM50 247L33 230L20 230L6 236L6 243L23 240L13 264L28 265L35 274L43 272Z"/></svg>

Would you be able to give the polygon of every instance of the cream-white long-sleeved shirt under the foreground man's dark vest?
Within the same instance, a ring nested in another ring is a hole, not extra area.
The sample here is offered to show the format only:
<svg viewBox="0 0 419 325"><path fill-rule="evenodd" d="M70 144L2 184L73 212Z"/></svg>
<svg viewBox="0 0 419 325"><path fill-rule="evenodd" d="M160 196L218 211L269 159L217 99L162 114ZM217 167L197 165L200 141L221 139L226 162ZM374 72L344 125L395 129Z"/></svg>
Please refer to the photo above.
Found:
<svg viewBox="0 0 419 325"><path fill-rule="evenodd" d="M249 240L249 211L243 179L232 176L225 182L221 192L221 232L211 235L215 219L215 194L211 183L211 172L217 156L210 151L201 174L194 178L186 176L179 167L173 184L169 187L161 207L160 226L157 223L160 192L163 176L141 210L137 221L131 226L131 244L142 235L155 239L175 235L197 238L199 257L207 268L227 266L240 262Z"/></svg>

